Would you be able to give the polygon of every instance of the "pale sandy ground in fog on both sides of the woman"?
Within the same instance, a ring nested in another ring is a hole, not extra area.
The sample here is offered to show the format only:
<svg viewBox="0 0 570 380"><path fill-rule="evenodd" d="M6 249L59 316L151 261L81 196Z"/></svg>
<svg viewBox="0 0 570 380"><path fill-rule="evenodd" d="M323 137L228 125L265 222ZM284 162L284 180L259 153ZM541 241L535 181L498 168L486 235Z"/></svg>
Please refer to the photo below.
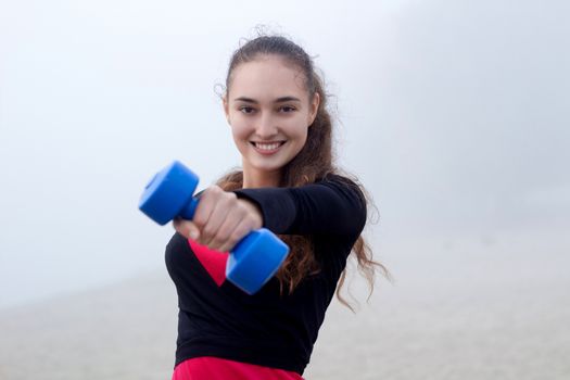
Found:
<svg viewBox="0 0 570 380"><path fill-rule="evenodd" d="M570 379L561 236L381 244L395 278L358 312L333 302L306 379ZM169 379L166 271L0 311L0 379Z"/></svg>

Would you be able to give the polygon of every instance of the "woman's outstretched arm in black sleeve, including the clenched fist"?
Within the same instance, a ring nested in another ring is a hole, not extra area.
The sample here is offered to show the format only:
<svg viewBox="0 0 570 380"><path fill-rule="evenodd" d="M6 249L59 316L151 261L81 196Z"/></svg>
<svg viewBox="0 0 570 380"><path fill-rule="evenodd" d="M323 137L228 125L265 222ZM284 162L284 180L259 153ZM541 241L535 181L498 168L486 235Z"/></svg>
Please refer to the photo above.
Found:
<svg viewBox="0 0 570 380"><path fill-rule="evenodd" d="M356 239L366 224L366 201L342 177L299 188L202 192L193 220L174 220L175 229L212 250L230 251L245 235L266 227L283 235L335 235Z"/></svg>

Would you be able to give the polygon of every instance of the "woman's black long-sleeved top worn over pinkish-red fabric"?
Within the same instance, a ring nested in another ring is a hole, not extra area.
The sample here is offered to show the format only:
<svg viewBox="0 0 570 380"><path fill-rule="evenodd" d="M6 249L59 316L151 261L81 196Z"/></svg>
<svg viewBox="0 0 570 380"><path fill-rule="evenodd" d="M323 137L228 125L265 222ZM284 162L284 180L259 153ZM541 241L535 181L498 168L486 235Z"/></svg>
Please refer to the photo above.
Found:
<svg viewBox="0 0 570 380"><path fill-rule="evenodd" d="M274 277L248 295L213 281L178 233L166 246L166 266L178 293L176 365L215 356L303 373L346 258L366 224L366 201L351 180L329 175L297 188L237 190L259 206L264 227L311 236L320 270L289 294Z"/></svg>

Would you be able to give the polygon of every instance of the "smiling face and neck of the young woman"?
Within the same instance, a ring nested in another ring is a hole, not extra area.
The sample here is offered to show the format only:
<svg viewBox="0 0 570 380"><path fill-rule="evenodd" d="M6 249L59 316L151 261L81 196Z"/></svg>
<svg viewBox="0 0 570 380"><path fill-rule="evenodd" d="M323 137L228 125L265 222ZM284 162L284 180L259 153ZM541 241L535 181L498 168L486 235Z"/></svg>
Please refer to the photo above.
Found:
<svg viewBox="0 0 570 380"><path fill-rule="evenodd" d="M277 186L281 168L301 151L317 114L304 74L275 55L238 65L224 109L242 156L244 187Z"/></svg>

